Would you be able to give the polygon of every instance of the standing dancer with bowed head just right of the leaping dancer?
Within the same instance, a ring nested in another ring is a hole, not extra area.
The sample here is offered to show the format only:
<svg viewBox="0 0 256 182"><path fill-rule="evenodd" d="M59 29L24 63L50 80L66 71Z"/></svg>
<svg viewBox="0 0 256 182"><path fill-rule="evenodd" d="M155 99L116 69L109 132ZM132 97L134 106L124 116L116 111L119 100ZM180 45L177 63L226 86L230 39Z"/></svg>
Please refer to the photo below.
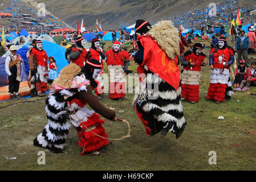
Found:
<svg viewBox="0 0 256 182"><path fill-rule="evenodd" d="M207 64L204 62L206 55L201 52L202 48L201 43L196 43L193 50L189 49L181 55L181 97L192 104L199 101L201 67Z"/></svg>

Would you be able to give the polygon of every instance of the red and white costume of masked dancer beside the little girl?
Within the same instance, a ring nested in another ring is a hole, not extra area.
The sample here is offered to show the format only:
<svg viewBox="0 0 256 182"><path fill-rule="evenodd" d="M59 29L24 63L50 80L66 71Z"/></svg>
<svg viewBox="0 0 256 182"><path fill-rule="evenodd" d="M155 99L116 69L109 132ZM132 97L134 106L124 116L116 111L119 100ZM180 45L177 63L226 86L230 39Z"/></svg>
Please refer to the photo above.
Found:
<svg viewBox="0 0 256 182"><path fill-rule="evenodd" d="M30 52L30 56L34 57L34 59L36 59L36 64L37 64L37 68L36 68L36 75L35 75L35 86L36 86L36 91L37 92L42 92L42 93L46 93L46 90L48 89L48 85L47 85L47 78L48 78L48 65L47 65L47 60L48 60L48 56L46 51L44 51L43 49L41 51L39 51L39 49L37 48L32 48L31 52ZM31 84L33 85L33 84Z"/></svg>

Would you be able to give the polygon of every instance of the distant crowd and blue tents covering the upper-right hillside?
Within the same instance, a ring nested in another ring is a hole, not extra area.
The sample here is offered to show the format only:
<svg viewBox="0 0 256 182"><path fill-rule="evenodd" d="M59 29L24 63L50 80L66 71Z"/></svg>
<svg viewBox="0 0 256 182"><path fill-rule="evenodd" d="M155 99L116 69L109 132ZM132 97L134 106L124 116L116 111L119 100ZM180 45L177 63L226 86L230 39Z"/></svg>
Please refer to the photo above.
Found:
<svg viewBox="0 0 256 182"><path fill-rule="evenodd" d="M182 24L185 28L196 28L204 30L210 33L210 27L208 24L214 26L230 26L230 21L233 18L237 18L238 10L241 10L241 16L243 18L243 24L251 23L256 15L249 16L250 12L247 11L248 7L254 6L253 0L247 2L244 5L241 1L225 0L223 2L216 3L216 16L209 15L210 7L205 7L204 9L196 9L193 11L188 11L186 14L181 14L174 16L173 18L168 18L172 20L174 26L180 28Z"/></svg>

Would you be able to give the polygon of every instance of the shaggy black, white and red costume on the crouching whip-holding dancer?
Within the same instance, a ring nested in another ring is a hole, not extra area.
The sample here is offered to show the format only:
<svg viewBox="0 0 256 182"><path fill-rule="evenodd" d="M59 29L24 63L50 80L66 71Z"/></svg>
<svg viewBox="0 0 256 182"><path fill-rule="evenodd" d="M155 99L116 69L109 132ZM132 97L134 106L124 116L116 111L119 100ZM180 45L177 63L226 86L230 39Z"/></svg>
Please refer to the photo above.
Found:
<svg viewBox="0 0 256 182"><path fill-rule="evenodd" d="M67 67L80 69L76 68L78 65L72 63ZM63 72L60 74L63 75ZM56 84L59 81L63 82L63 78L68 80L67 77L68 75L61 79L57 78L50 89L50 94L46 100L48 124L44 127L42 133L34 139L34 145L56 153L62 152L62 149L66 146L66 136L70 129L68 121L70 121L78 131L78 145L83 149L80 155L107 146L109 144L108 135L105 133L104 127L101 126L104 120L100 119L99 114L86 107L87 101L75 98L75 95L79 92L88 92L90 81L83 73L80 73L72 79L69 87Z"/></svg>

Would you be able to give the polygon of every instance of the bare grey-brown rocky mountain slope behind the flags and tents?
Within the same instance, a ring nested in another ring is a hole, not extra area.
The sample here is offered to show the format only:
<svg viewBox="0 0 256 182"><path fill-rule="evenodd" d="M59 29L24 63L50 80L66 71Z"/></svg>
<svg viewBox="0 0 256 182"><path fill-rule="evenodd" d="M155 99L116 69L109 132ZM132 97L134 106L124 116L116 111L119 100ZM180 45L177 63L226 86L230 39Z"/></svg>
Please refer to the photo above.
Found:
<svg viewBox="0 0 256 182"><path fill-rule="evenodd" d="M211 0L38 0L48 11L76 28L77 21L84 19L87 30L95 30L96 19L104 30L130 26L136 19L155 23L189 10L207 7ZM221 1L218 1L221 2Z"/></svg>

